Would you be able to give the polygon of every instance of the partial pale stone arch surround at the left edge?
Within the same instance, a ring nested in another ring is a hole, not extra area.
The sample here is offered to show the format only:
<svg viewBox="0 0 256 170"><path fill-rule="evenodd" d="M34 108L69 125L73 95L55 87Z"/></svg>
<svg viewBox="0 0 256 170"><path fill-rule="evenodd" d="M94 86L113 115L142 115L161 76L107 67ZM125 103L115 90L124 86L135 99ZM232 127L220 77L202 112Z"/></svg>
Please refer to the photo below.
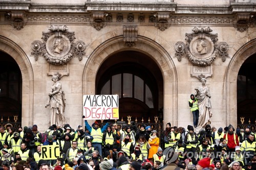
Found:
<svg viewBox="0 0 256 170"><path fill-rule="evenodd" d="M22 73L22 126L33 125L33 70L28 56L15 42L0 36L0 50L10 55Z"/></svg>

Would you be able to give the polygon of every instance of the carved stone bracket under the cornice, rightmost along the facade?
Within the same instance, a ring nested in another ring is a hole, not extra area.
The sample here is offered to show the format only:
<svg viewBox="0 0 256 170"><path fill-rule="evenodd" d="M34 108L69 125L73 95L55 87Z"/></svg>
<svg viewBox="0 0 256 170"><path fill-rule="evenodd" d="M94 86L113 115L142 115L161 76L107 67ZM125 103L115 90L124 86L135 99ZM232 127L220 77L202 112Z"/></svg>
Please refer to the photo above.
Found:
<svg viewBox="0 0 256 170"><path fill-rule="evenodd" d="M238 13L236 19L237 23L235 23L234 28L240 32L246 31L249 27L250 13Z"/></svg>

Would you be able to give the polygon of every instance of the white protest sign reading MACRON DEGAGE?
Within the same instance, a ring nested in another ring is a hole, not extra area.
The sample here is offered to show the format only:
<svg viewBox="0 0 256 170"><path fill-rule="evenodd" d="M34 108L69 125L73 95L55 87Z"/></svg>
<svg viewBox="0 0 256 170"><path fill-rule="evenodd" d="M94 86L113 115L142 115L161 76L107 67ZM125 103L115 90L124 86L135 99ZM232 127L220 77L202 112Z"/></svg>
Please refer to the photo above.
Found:
<svg viewBox="0 0 256 170"><path fill-rule="evenodd" d="M118 95L83 95L82 101L87 120L119 119Z"/></svg>

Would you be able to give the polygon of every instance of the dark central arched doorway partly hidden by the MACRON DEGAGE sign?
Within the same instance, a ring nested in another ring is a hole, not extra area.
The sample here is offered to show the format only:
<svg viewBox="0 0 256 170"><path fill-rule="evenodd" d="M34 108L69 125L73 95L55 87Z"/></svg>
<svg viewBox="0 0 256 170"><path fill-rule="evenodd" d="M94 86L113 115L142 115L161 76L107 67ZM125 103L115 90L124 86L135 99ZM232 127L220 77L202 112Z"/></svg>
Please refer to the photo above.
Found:
<svg viewBox="0 0 256 170"><path fill-rule="evenodd" d="M130 115L140 122L153 122L163 107L163 78L157 64L137 51L111 55L100 66L96 77L97 94L119 95L119 117Z"/></svg>

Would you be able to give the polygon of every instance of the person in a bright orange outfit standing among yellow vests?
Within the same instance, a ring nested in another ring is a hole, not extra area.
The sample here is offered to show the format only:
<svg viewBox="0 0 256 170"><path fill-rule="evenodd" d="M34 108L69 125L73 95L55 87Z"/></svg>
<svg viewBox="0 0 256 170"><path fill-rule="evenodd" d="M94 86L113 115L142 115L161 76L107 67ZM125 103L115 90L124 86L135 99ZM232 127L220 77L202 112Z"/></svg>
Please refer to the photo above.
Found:
<svg viewBox="0 0 256 170"><path fill-rule="evenodd" d="M157 131L153 130L151 132L150 139L148 140L148 143L151 146L151 149L148 151L148 159L152 159L153 155L157 153L158 147L159 147L159 137L157 137Z"/></svg>

